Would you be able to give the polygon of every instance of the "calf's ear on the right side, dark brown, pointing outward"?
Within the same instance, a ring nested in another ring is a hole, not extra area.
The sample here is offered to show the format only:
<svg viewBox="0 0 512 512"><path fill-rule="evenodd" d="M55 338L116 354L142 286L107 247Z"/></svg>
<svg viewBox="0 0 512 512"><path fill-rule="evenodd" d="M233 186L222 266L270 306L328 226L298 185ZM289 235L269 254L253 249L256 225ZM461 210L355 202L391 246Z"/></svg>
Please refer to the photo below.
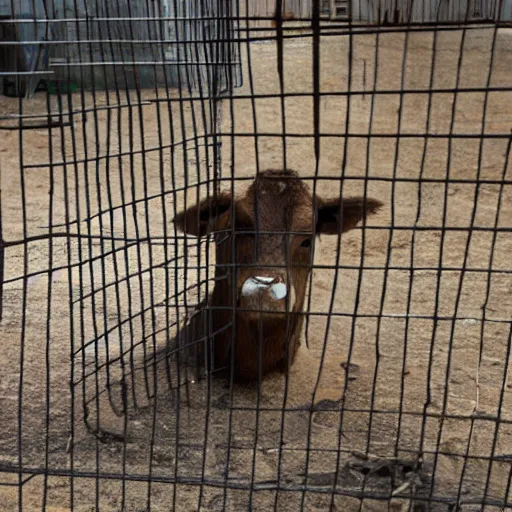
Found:
<svg viewBox="0 0 512 512"><path fill-rule="evenodd" d="M377 199L349 197L347 199L318 199L317 234L337 235L356 227L369 215L377 213L383 204Z"/></svg>

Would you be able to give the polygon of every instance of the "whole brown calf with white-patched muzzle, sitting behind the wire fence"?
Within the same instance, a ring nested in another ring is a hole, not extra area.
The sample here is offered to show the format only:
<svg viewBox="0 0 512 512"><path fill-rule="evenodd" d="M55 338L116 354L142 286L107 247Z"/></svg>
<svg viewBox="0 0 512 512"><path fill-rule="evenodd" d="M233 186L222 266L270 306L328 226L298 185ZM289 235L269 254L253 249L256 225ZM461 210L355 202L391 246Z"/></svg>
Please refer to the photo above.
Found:
<svg viewBox="0 0 512 512"><path fill-rule="evenodd" d="M213 234L217 249L213 293L182 345L210 370L233 364L235 378L286 371L300 345L314 235L348 231L381 206L360 197L314 201L295 172L269 170L235 201L222 192L177 215L179 229Z"/></svg>

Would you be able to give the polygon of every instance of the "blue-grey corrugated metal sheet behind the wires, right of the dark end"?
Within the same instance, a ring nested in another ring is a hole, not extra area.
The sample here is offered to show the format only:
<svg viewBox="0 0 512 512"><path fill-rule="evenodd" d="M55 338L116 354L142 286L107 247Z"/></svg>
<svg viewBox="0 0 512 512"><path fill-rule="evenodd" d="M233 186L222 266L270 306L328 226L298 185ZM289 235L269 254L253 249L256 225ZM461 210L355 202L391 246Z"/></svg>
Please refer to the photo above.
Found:
<svg viewBox="0 0 512 512"><path fill-rule="evenodd" d="M50 0L47 8L51 18L80 20L55 24L53 37L65 44L52 57L65 61L56 64L57 76L84 87L154 87L156 82L206 90L239 82L240 69L233 64L238 47L218 43L232 27L198 19L218 15L213 0Z"/></svg>

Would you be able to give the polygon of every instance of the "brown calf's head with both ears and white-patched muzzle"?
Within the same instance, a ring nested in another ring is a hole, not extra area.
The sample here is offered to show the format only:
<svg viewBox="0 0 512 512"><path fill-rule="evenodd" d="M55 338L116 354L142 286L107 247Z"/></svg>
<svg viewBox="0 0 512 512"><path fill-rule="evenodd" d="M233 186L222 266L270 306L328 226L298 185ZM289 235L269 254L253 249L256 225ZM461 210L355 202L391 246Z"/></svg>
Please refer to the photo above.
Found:
<svg viewBox="0 0 512 512"><path fill-rule="evenodd" d="M275 319L302 311L314 237L348 231L381 206L360 197L314 200L295 172L269 170L244 196L222 192L180 213L175 224L215 238L214 306L235 304L247 320Z"/></svg>

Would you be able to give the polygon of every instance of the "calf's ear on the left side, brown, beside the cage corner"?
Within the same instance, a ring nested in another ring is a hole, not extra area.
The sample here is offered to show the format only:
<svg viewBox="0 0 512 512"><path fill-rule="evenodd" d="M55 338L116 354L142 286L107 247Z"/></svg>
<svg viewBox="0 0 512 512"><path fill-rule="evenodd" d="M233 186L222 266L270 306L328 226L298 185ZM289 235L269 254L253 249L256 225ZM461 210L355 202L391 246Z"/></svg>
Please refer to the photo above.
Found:
<svg viewBox="0 0 512 512"><path fill-rule="evenodd" d="M184 233L206 236L215 226L216 220L231 208L231 193L221 192L215 197L203 199L199 204L178 213L175 226Z"/></svg>

